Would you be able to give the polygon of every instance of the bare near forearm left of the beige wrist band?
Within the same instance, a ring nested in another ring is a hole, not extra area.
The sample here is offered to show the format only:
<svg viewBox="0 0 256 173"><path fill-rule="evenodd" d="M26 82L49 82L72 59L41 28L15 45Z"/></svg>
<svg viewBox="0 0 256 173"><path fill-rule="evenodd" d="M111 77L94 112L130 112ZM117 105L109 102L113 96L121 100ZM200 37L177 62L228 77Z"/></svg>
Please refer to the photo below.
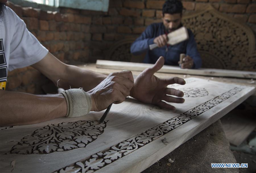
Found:
<svg viewBox="0 0 256 173"><path fill-rule="evenodd" d="M67 114L62 94L32 95L0 89L0 101L0 126L34 124Z"/></svg>

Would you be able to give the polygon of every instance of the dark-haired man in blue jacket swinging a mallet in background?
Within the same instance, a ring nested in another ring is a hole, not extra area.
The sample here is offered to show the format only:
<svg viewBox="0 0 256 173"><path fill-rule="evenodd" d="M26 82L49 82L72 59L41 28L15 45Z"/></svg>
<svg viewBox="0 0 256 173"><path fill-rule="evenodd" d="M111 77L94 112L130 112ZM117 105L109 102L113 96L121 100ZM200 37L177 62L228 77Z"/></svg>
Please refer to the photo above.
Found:
<svg viewBox="0 0 256 173"><path fill-rule="evenodd" d="M189 39L176 45L167 44L167 34L182 26L182 9L183 6L180 0L166 1L162 9L163 22L150 24L131 45L131 53L139 55L146 51L144 63L155 63L160 56L163 56L166 65L178 65L179 55L185 53L186 56L181 62L181 68L200 68L202 60L191 30L187 29ZM149 45L154 43L158 45L158 48L149 50Z"/></svg>

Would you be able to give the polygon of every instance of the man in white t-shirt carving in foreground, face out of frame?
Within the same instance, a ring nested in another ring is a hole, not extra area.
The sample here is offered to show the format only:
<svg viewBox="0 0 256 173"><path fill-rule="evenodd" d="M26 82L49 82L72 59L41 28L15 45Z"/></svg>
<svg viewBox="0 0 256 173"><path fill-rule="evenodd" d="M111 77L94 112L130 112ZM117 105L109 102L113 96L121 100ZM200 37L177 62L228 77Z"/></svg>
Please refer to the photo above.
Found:
<svg viewBox="0 0 256 173"><path fill-rule="evenodd" d="M135 80L128 70L106 76L64 64L39 43L13 10L5 7L6 2L0 0L0 126L82 116L90 111L102 111L111 103L121 103L128 95L170 110L175 107L164 101L184 102L182 98L170 96L182 97L182 91L167 88L169 84L185 84L183 79L160 79L154 76L164 64L163 57ZM58 86L68 90L55 95L5 91L8 70L30 65L55 84L59 80ZM69 86L74 89L69 89Z"/></svg>

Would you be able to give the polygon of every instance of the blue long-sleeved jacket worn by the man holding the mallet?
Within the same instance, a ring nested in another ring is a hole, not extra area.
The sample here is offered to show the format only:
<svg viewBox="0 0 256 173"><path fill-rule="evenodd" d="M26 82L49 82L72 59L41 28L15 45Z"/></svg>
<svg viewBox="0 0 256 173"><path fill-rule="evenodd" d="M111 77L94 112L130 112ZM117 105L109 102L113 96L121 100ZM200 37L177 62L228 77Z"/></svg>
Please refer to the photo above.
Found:
<svg viewBox="0 0 256 173"><path fill-rule="evenodd" d="M154 38L165 34L164 30L164 24L162 22L150 24L141 36L131 45L131 53L139 55L146 51L146 57L143 62L151 64L155 63L160 56L163 56L165 59L164 64L175 66L178 65L179 55L181 53L185 53L194 60L193 68L200 68L202 66L202 59L197 51L197 44L195 42L194 35L189 29L187 29L189 39L176 45L166 45L164 47L149 50L149 45L154 43Z"/></svg>

